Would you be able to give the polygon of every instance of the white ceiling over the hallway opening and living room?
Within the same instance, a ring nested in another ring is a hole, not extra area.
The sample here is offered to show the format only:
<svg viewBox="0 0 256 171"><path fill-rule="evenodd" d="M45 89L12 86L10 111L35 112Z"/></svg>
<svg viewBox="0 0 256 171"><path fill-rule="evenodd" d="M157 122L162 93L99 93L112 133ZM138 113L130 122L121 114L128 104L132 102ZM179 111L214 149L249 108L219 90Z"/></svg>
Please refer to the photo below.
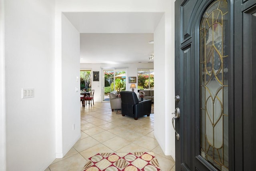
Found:
<svg viewBox="0 0 256 171"><path fill-rule="evenodd" d="M162 12L66 12L80 32L80 63L148 63Z"/></svg>

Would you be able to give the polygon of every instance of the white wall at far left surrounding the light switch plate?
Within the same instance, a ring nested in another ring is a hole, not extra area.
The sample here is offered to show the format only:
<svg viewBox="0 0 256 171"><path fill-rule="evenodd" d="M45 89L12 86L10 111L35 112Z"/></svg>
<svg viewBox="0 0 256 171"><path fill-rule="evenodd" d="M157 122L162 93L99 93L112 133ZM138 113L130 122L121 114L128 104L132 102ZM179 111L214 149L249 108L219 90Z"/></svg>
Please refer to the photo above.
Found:
<svg viewBox="0 0 256 171"><path fill-rule="evenodd" d="M6 169L55 159L54 1L5 0ZM21 98L34 88L34 98ZM2 126L1 126L2 127Z"/></svg>

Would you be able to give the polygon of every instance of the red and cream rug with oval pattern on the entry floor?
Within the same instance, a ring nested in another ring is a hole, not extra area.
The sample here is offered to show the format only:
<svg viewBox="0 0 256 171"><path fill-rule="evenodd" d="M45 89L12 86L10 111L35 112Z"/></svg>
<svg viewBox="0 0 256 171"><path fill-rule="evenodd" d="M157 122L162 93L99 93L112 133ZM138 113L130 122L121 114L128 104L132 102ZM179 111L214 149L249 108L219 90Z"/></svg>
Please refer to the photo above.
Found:
<svg viewBox="0 0 256 171"><path fill-rule="evenodd" d="M89 160L83 171L160 171L153 152L98 153Z"/></svg>

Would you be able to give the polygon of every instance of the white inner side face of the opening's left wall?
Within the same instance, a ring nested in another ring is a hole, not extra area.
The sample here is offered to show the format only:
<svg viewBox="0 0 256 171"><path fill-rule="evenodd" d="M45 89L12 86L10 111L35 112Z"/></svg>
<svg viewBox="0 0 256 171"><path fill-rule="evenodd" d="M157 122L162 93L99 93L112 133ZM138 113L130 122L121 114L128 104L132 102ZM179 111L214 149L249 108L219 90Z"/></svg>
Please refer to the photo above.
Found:
<svg viewBox="0 0 256 171"><path fill-rule="evenodd" d="M64 155L81 136L79 68L80 33L62 14L62 142ZM73 124L75 124L74 130Z"/></svg>

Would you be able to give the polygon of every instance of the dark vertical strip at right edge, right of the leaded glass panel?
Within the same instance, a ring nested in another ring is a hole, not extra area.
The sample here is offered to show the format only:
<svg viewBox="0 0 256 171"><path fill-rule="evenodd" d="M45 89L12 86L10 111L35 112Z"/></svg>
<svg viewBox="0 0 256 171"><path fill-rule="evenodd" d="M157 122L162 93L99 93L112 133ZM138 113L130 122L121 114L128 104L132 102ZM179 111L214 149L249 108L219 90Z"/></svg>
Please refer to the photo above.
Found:
<svg viewBox="0 0 256 171"><path fill-rule="evenodd" d="M256 144L256 136L253 134L256 132L256 71L253 68L256 65L256 24L254 22L252 25L251 22L253 13L256 13L255 0L234 2L234 21L236 22L234 22L235 145L233 154L234 170L238 171L253 170L256 161L256 149L253 147ZM242 156L242 159L237 156Z"/></svg>

